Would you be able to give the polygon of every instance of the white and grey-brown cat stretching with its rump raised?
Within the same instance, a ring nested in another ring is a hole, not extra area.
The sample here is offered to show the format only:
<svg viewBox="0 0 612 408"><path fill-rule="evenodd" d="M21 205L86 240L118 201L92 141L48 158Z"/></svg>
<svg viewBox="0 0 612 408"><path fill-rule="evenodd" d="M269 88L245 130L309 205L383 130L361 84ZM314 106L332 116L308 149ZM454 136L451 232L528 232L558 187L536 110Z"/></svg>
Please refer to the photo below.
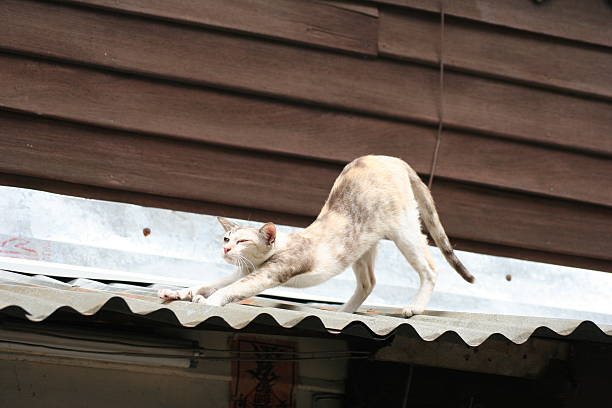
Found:
<svg viewBox="0 0 612 408"><path fill-rule="evenodd" d="M473 283L474 276L455 256L429 189L417 173L399 158L370 155L344 167L317 219L299 232L286 235L270 222L254 228L218 217L225 230L223 257L237 266L236 271L208 285L162 289L159 296L223 306L275 286L317 285L352 265L357 287L339 311L354 313L376 284L376 247L386 238L420 278L419 289L402 314L422 314L437 273L421 218L448 263Z"/></svg>

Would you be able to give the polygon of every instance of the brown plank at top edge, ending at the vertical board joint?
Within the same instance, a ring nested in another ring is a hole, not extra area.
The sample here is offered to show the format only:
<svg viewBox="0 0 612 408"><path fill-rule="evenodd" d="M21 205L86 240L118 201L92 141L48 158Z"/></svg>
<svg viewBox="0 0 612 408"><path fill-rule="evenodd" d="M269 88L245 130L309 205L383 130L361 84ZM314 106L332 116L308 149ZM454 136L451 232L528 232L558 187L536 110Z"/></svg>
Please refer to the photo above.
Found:
<svg viewBox="0 0 612 408"><path fill-rule="evenodd" d="M370 10L300 0L55 0L205 27L376 55L378 22ZM369 11L369 13L364 12Z"/></svg>

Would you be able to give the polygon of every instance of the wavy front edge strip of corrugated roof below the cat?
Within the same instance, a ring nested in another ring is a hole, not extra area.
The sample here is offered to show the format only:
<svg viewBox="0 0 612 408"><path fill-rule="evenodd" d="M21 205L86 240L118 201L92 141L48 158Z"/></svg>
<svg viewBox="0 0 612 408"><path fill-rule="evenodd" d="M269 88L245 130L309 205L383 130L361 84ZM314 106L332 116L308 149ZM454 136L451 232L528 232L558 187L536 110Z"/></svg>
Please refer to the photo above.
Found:
<svg viewBox="0 0 612 408"><path fill-rule="evenodd" d="M109 286L109 288L112 288ZM70 296L66 292L70 291ZM163 303L153 296L117 294L80 288L49 288L23 284L0 284L0 310L19 307L31 321L43 321L61 309L69 308L89 316L104 308L116 310L121 302L132 314L149 315L160 310L171 312L184 327L195 327L213 318L223 319L234 329L243 329L255 319L269 316L275 324L293 328L305 319L316 318L330 333L345 332L350 326L362 325L373 336L387 336L402 326L409 326L425 341L432 341L445 333L457 334L466 344L478 346L493 335L501 335L515 344L527 341L536 331L546 328L560 336L571 336L584 324L591 324L602 335L612 337L612 326L598 325L571 319L537 318L504 315L470 314L456 312L430 312L410 319L387 315L346 314L312 308L289 310L277 307L256 307L231 304L223 308L175 301ZM516 323L516 324L514 324Z"/></svg>

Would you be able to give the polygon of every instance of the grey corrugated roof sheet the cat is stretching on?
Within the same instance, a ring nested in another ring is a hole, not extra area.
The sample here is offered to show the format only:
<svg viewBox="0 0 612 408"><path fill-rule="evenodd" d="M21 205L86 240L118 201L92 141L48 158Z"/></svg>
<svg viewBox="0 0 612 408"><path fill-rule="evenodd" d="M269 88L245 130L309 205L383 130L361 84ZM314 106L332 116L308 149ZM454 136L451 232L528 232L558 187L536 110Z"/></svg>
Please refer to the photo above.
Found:
<svg viewBox="0 0 612 408"><path fill-rule="evenodd" d="M612 342L612 326L579 320L439 311L404 319L393 316L390 309L348 314L261 297L250 299L247 304L213 307L182 301L163 303L156 296L158 287L106 284L88 279L65 283L47 276L0 271L0 311L17 307L34 322L45 320L59 310L72 309L88 316L106 309L149 316L184 327L195 327L220 318L234 329L257 322L372 337L408 330L427 341L454 332L470 346L478 346L495 334L517 344L532 335Z"/></svg>

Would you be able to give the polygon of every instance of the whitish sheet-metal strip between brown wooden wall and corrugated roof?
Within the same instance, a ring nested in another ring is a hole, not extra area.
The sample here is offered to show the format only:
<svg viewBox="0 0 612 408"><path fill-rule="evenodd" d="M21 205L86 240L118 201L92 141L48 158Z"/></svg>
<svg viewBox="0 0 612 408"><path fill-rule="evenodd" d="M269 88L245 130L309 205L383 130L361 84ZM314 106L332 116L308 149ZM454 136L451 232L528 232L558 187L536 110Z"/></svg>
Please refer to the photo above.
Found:
<svg viewBox="0 0 612 408"><path fill-rule="evenodd" d="M299 230L278 228L284 233ZM210 215L0 186L0 269L59 279L192 286L233 270L220 255L222 231ZM432 247L438 282L431 309L612 324L612 274L457 253L477 283L464 282ZM418 274L392 242L379 243L375 268L377 284L368 304L398 308L416 293ZM342 303L355 284L347 268L316 287L280 286L264 294Z"/></svg>

